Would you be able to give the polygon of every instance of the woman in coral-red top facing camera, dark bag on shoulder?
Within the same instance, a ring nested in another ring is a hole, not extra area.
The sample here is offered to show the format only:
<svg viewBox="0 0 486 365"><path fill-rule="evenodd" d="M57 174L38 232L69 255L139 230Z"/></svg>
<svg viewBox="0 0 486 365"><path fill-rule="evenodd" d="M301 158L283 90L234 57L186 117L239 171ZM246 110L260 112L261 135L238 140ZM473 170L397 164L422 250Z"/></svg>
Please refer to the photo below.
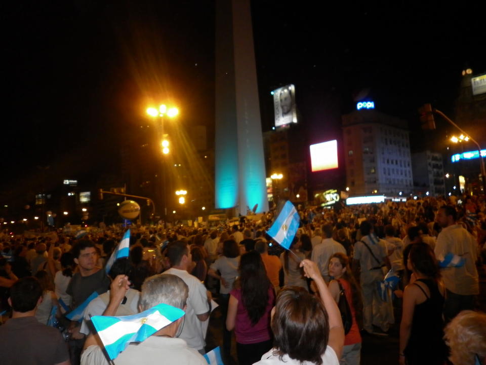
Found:
<svg viewBox="0 0 486 365"><path fill-rule="evenodd" d="M329 291L336 303L339 302L339 283L344 289L344 294L351 309L353 317L353 324L351 329L344 337L344 348L341 360L341 365L359 365L361 357L361 335L359 334L359 327L356 322L356 313L361 313L361 293L359 287L354 280L354 276L349 268L348 257L341 252L337 252L331 256L329 260L329 275L334 277L329 283Z"/></svg>

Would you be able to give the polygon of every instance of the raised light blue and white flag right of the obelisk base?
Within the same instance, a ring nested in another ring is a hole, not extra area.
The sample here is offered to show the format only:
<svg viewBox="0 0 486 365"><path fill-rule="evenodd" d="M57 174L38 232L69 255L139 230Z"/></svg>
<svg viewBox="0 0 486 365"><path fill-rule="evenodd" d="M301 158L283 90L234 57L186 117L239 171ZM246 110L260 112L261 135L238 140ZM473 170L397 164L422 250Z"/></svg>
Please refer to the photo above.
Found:
<svg viewBox="0 0 486 365"><path fill-rule="evenodd" d="M300 216L289 200L278 214L267 234L285 249L289 249L299 229Z"/></svg>

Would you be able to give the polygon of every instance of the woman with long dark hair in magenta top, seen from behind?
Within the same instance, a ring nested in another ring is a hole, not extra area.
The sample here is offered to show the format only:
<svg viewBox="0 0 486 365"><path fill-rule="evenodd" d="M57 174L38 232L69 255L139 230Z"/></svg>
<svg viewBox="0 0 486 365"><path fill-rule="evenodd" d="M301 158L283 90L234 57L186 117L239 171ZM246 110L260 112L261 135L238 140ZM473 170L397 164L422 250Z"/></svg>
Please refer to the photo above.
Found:
<svg viewBox="0 0 486 365"><path fill-rule="evenodd" d="M272 348L273 287L257 251L241 256L239 278L230 292L226 328L234 329L239 365L251 365Z"/></svg>

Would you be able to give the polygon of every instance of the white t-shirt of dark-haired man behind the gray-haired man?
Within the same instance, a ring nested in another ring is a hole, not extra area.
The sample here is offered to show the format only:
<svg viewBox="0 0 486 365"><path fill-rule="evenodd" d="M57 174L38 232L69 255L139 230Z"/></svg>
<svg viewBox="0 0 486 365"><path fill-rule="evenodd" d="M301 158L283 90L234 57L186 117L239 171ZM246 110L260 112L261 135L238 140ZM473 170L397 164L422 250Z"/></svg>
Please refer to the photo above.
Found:
<svg viewBox="0 0 486 365"><path fill-rule="evenodd" d="M209 312L208 295L206 286L201 283L195 276L185 270L170 268L164 274L173 274L179 276L189 287L189 298L187 298L186 314L182 324L180 338L187 342L190 348L201 350L206 346L204 341L206 331L203 330L203 322L197 319L197 314Z"/></svg>

